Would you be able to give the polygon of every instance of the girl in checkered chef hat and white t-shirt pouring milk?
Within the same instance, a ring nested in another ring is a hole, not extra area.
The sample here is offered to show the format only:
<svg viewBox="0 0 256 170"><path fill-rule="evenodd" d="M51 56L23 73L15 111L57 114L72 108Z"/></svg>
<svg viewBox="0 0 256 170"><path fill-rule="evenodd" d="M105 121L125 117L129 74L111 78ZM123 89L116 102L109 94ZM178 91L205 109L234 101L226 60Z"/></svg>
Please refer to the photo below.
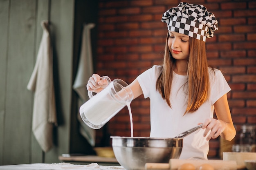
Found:
<svg viewBox="0 0 256 170"><path fill-rule="evenodd" d="M209 140L236 135L222 73L207 64L205 40L213 37L218 22L202 5L181 2L162 16L168 33L164 61L139 75L129 86L134 97L150 97L150 137L175 137L202 124L183 139L180 159L207 159ZM98 93L106 80L90 77L87 89ZM213 119L215 110L218 119Z"/></svg>

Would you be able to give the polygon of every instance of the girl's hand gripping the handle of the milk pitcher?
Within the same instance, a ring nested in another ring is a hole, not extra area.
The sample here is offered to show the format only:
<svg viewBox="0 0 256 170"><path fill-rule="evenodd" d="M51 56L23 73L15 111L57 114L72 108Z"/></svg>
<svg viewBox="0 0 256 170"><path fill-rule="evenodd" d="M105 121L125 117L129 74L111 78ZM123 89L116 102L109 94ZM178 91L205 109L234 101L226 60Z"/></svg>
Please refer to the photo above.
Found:
<svg viewBox="0 0 256 170"><path fill-rule="evenodd" d="M101 79L101 76L93 74L92 77L89 78L86 88L88 91L99 93L104 88L106 88L106 86L108 86L107 79Z"/></svg>

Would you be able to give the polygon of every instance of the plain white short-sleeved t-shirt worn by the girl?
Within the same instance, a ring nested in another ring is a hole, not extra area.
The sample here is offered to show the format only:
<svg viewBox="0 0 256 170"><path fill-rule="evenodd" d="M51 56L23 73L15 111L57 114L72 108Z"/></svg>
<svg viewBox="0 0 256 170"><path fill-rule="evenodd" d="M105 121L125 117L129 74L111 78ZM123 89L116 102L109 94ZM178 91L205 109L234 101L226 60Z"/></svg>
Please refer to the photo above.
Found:
<svg viewBox="0 0 256 170"><path fill-rule="evenodd" d="M150 98L150 137L175 137L197 126L198 123L203 123L206 118L213 117L213 104L231 90L222 73L217 69L212 71L209 68L211 88L209 100L202 104L196 112L184 115L187 107L184 92L187 76L173 73L170 97L172 108L170 108L156 90L156 80L161 69L162 66L155 65L137 77L144 97ZM180 159L207 159L209 141L203 137L203 132L204 130L200 129L184 137Z"/></svg>

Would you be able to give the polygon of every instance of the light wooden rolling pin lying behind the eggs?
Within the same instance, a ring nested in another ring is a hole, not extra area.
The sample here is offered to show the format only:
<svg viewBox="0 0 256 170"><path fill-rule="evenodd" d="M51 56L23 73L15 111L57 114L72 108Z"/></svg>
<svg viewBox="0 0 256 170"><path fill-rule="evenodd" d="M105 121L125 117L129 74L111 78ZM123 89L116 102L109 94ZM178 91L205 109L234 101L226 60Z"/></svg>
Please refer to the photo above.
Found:
<svg viewBox="0 0 256 170"><path fill-rule="evenodd" d="M236 161L202 160L202 159L170 159L169 163L146 163L146 170L177 170L182 164L191 163L198 169L202 164L213 166L214 170L237 170Z"/></svg>

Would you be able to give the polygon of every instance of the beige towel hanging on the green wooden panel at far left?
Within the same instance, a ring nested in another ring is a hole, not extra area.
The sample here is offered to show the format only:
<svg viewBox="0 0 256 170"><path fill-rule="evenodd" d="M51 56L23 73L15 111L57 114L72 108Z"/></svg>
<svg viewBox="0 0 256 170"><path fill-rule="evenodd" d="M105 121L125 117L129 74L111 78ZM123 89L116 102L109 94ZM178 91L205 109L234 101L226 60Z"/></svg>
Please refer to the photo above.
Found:
<svg viewBox="0 0 256 170"><path fill-rule="evenodd" d="M42 21L41 26L43 36L27 89L34 92L32 131L42 150L47 152L53 146L53 127L57 126L57 117L48 21Z"/></svg>

